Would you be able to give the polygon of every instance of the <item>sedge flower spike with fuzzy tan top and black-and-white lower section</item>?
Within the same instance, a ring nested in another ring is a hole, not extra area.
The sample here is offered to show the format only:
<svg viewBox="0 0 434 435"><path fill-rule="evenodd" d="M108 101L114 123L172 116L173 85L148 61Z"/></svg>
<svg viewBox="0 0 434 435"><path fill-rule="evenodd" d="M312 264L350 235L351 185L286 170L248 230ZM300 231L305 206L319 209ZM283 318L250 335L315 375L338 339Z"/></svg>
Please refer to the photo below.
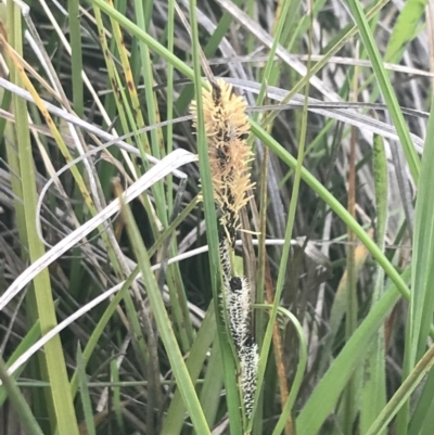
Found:
<svg viewBox="0 0 434 435"><path fill-rule="evenodd" d="M253 153L245 141L250 125L245 114L246 102L232 92L232 86L224 80L212 81L210 86L210 91L204 90L202 98L214 197L221 210L220 223L225 230L219 238L222 297L229 331L240 360L245 414L251 418L259 358L257 345L250 334L251 290L245 278L232 277L229 255L240 229L240 210L250 200L247 191L254 185L248 167ZM195 101L191 103L190 112L196 127Z"/></svg>

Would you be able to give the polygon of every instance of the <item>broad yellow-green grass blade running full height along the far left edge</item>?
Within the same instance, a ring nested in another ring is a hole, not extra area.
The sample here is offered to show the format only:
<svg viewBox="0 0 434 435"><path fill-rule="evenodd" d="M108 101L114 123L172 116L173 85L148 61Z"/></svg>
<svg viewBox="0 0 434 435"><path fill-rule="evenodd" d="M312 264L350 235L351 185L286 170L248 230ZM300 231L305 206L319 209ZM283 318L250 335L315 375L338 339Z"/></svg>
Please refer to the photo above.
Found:
<svg viewBox="0 0 434 435"><path fill-rule="evenodd" d="M11 2L13 3L13 2ZM8 9L9 25L14 33L13 43L17 53L23 50L22 41L22 25L21 10L16 4L10 4ZM5 51L11 55L16 68L17 75L14 76L17 85L22 85L21 80L26 80L27 77L20 62L16 62L16 56L9 47L4 37L0 34L0 39ZM15 74L16 74L15 73ZM27 79L28 81L28 79ZM17 95L13 95L13 107L15 114L16 143L20 159L20 174L23 191L24 216L27 232L27 242L29 259L34 263L44 253L42 243L40 242L36 231L36 174L31 153L31 143L28 128L27 104ZM35 321L39 319L41 333L44 334L56 324L54 302L51 293L51 282L49 271L43 269L35 279L34 287L28 294L30 318ZM47 395L48 409L50 414L50 424L52 430L59 427L66 433L68 430L72 435L78 435L78 426L75 417L74 404L71 395L65 392L64 386L67 385L68 378L66 372L65 359L62 351L62 343L59 335L44 346L46 355L40 358L42 376L49 380L51 384L50 393Z"/></svg>

